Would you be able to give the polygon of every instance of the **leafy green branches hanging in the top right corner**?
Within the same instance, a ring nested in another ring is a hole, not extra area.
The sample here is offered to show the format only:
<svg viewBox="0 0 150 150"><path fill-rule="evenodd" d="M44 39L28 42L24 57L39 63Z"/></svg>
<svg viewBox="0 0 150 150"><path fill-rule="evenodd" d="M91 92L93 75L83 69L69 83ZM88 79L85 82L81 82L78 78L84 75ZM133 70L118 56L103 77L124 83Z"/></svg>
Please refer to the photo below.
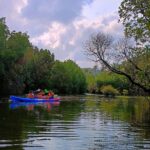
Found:
<svg viewBox="0 0 150 150"><path fill-rule="evenodd" d="M138 44L150 42L150 0L123 0L119 15L127 36Z"/></svg>

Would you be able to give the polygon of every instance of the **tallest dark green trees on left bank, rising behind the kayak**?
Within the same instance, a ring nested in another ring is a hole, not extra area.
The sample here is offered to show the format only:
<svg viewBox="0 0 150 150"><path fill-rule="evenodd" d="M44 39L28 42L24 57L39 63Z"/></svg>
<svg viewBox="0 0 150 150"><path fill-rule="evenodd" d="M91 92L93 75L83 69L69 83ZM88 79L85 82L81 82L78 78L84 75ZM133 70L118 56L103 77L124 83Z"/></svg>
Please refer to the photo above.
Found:
<svg viewBox="0 0 150 150"><path fill-rule="evenodd" d="M34 48L26 33L10 32L5 18L0 19L0 46L0 95L49 86L54 55Z"/></svg>

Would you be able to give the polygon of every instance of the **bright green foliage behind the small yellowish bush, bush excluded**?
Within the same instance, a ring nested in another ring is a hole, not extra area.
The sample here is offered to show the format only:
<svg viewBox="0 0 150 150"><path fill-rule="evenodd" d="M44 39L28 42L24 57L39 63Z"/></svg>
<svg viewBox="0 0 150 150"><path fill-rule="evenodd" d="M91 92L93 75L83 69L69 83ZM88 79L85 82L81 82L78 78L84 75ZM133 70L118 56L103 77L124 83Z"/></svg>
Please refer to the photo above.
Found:
<svg viewBox="0 0 150 150"><path fill-rule="evenodd" d="M125 77L109 71L99 71L99 73L94 75L86 70L85 75L89 93L101 93L101 87L106 85L112 85L118 89L120 93L122 93L124 89L129 89L129 83Z"/></svg>

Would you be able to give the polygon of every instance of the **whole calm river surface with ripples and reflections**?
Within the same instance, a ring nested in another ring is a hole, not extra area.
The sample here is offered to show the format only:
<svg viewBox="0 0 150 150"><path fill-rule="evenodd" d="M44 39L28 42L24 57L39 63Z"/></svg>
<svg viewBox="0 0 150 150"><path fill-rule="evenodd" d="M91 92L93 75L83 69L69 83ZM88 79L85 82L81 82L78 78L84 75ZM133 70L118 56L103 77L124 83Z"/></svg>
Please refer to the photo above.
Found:
<svg viewBox="0 0 150 150"><path fill-rule="evenodd" d="M143 98L66 96L60 103L0 103L0 149L150 149Z"/></svg>

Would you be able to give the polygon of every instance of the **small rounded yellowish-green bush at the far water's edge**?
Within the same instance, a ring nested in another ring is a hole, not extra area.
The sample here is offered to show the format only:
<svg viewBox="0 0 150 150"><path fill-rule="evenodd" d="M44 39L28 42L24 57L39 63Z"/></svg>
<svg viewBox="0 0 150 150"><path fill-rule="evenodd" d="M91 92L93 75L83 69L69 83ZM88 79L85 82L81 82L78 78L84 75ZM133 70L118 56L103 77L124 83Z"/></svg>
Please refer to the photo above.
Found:
<svg viewBox="0 0 150 150"><path fill-rule="evenodd" d="M119 91L115 89L112 85L106 85L101 87L101 92L105 96L115 96L119 94Z"/></svg>

